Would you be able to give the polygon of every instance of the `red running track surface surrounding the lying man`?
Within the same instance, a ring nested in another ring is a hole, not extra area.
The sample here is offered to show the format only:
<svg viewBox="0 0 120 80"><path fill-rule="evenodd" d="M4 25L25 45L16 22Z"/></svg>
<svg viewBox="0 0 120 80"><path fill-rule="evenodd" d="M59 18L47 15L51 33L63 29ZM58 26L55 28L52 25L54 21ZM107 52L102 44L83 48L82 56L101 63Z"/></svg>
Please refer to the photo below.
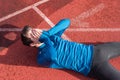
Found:
<svg viewBox="0 0 120 80"><path fill-rule="evenodd" d="M32 5L39 0L0 0L0 19ZM50 0L38 5L54 24L70 18L71 26L65 34L82 43L120 41L119 31L77 31L88 28L120 28L119 0ZM22 28L29 24L37 28L50 25L33 9L0 22L0 28ZM0 32L0 80L93 80L69 70L40 67L36 62L37 49L23 46L20 32ZM120 70L120 58L110 60Z"/></svg>

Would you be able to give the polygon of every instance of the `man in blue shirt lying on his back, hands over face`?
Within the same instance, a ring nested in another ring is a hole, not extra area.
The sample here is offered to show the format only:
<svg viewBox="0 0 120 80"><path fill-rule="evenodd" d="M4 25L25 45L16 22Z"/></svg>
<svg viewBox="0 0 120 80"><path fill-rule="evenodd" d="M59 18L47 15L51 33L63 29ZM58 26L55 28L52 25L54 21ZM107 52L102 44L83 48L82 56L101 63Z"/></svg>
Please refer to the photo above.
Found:
<svg viewBox="0 0 120 80"><path fill-rule="evenodd" d="M100 80L120 80L120 72L109 59L120 56L120 43L86 45L61 38L70 25L63 19L48 31L25 26L21 33L24 45L38 47L39 64L49 68L71 69L87 76L94 73Z"/></svg>

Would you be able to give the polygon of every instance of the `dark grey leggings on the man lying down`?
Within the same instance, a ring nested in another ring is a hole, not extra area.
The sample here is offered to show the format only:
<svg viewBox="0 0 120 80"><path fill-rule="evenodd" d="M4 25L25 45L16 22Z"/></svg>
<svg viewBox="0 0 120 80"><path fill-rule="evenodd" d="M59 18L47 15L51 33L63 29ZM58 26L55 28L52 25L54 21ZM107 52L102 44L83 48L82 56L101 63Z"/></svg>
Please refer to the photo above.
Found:
<svg viewBox="0 0 120 80"><path fill-rule="evenodd" d="M120 71L110 63L111 58L120 56L120 43L112 42L94 46L91 72L97 80L120 80Z"/></svg>

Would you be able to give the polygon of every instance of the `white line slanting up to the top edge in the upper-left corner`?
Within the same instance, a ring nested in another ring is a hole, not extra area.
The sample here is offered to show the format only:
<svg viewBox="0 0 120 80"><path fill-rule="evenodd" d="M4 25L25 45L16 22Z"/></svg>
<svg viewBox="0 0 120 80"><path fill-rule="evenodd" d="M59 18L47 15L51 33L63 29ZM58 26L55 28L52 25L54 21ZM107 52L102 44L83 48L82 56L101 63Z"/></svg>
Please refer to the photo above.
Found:
<svg viewBox="0 0 120 80"><path fill-rule="evenodd" d="M23 12L25 12L25 11L28 11L28 10L30 10L33 6L38 6L38 5L43 4L43 3L47 2L47 1L49 1L49 0L39 1L39 2L37 2L37 3L35 3L35 4L32 4L32 5L28 6L28 7L25 7L25 8L23 8L23 9L21 9L21 10L18 10L18 11L14 12L14 13L11 13L11 14L7 15L7 16L4 16L4 17L0 18L0 22L5 21L5 20L7 20L7 19L9 19L9 18L11 18L11 17L14 17L14 16L16 16L16 15L18 15L18 14L20 14L20 13L23 13Z"/></svg>

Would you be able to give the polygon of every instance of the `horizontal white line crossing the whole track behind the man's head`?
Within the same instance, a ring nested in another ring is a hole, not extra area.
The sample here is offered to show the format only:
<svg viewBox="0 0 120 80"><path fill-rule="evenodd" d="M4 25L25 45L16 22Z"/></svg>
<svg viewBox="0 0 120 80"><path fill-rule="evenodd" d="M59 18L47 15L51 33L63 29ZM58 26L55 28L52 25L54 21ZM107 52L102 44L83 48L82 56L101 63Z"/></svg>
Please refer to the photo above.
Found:
<svg viewBox="0 0 120 80"><path fill-rule="evenodd" d="M41 28L43 30L48 30L47 28ZM19 32L22 28L0 28L0 32L14 31ZM120 32L120 28L69 28L68 32Z"/></svg>

